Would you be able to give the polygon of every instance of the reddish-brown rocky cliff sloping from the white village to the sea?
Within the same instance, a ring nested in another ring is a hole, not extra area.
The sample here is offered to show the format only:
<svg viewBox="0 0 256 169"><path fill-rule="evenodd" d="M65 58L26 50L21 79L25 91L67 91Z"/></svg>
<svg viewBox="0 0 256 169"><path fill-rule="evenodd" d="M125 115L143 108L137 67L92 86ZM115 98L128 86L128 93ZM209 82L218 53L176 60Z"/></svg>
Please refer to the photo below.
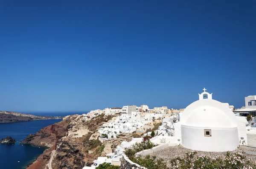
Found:
<svg viewBox="0 0 256 169"><path fill-rule="evenodd" d="M114 148L122 141L130 141L131 133L123 134L119 138L100 142L97 130L102 123L113 116L99 115L88 121L83 121L81 116L72 115L63 118L63 121L44 127L35 135L28 135L22 143L35 146L48 146L29 169L44 169L49 163L51 151L56 150L52 161L52 169L81 169L89 166L99 156L113 152Z"/></svg>

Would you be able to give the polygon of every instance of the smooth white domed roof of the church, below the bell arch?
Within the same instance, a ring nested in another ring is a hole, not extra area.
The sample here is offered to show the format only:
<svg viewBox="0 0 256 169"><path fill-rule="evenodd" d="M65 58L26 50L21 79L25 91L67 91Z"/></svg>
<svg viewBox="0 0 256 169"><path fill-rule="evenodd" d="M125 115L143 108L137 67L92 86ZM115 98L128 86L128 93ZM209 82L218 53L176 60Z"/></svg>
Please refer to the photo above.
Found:
<svg viewBox="0 0 256 169"><path fill-rule="evenodd" d="M190 127L237 127L234 113L219 101L201 99L193 102L184 110L180 124Z"/></svg>

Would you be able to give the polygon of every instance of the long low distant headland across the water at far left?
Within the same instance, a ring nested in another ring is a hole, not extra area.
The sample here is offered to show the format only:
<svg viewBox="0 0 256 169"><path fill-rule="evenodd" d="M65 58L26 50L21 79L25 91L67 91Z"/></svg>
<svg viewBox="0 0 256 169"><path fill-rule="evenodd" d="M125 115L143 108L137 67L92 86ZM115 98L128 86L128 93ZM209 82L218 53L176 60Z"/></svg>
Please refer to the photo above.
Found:
<svg viewBox="0 0 256 169"><path fill-rule="evenodd" d="M61 119L61 116L43 116L31 115L25 113L17 113L10 111L0 111L0 123L15 123L19 121L32 121L32 120L48 120L48 119Z"/></svg>

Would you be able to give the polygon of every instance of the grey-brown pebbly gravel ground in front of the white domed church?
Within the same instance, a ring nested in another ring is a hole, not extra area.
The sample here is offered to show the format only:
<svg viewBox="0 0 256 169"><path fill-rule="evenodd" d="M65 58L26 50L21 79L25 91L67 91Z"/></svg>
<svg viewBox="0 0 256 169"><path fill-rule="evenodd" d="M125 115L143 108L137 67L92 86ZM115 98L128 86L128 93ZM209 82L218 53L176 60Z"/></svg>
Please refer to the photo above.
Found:
<svg viewBox="0 0 256 169"><path fill-rule="evenodd" d="M157 158L163 158L164 161L167 162L167 166L169 166L169 161L172 158L175 158L176 156L184 156L186 152L191 152L191 149L187 149L183 146L169 146L165 149L161 149L157 152L154 152L150 155L155 155L157 156ZM224 157L225 152L202 152L202 151L198 151L197 156L200 155L206 155L206 156L211 156L211 157L215 157L217 155L223 156ZM256 161L256 155L251 155L251 154L247 154L246 156L249 156L250 158L253 159L253 161Z"/></svg>

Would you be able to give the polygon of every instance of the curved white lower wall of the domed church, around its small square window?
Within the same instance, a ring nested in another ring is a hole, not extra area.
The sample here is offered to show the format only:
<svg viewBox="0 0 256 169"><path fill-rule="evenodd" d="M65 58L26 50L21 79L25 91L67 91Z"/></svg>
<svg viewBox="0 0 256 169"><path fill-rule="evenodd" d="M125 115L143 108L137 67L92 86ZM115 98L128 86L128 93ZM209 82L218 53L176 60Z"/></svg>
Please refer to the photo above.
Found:
<svg viewBox="0 0 256 169"><path fill-rule="evenodd" d="M204 130L211 130L211 137L204 136ZM182 145L189 149L207 152L233 151L239 145L237 127L204 128L181 125Z"/></svg>

